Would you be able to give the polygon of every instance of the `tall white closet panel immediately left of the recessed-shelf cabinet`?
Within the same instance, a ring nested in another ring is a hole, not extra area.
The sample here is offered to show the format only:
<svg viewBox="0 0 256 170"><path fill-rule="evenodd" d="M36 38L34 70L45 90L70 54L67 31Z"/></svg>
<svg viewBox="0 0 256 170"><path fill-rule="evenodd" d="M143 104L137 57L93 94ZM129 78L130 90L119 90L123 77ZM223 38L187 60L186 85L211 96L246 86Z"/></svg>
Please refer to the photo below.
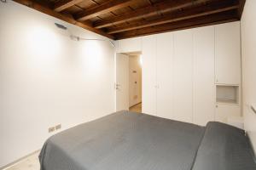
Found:
<svg viewBox="0 0 256 170"><path fill-rule="evenodd" d="M194 29L194 123L214 121L214 26Z"/></svg>

